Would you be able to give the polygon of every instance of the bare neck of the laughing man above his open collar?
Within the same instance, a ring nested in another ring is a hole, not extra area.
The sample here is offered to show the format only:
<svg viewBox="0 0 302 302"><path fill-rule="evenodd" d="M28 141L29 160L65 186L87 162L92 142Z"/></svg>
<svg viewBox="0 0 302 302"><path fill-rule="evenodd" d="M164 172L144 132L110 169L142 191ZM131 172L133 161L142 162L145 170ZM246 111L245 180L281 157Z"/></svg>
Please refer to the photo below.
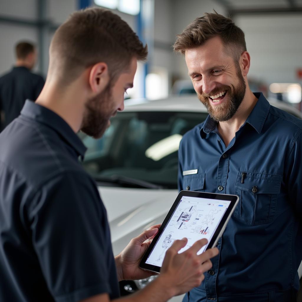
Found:
<svg viewBox="0 0 302 302"><path fill-rule="evenodd" d="M243 123L248 118L249 114L252 112L255 104L257 103L258 99L249 89L249 86L246 87L246 94L243 98L241 105L239 106L236 114L230 119L225 122L219 122L218 132L220 133L225 146L227 147L230 141L235 136L235 133L239 130L239 128L243 125Z"/></svg>

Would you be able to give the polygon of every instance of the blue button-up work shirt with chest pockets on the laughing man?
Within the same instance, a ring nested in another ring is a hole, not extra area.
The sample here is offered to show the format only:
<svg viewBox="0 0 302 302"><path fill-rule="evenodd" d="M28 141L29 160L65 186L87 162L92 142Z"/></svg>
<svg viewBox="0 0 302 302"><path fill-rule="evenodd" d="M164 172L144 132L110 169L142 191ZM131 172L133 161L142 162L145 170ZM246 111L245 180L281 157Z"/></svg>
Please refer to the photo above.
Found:
<svg viewBox="0 0 302 302"><path fill-rule="evenodd" d="M295 301L302 260L302 121L255 96L227 147L209 116L180 144L179 190L240 199L213 268L190 291L190 302ZM198 173L183 176L193 169Z"/></svg>

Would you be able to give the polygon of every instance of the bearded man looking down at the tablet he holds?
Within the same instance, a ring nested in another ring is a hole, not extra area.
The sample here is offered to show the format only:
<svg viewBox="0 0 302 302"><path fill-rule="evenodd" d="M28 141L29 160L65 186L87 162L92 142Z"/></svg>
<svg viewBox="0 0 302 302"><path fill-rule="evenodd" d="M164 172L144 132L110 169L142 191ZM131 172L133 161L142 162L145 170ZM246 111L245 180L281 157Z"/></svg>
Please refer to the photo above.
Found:
<svg viewBox="0 0 302 302"><path fill-rule="evenodd" d="M118 280L152 275L138 267L159 225L114 259L106 210L78 158L79 130L101 137L124 109L137 60L147 49L111 11L74 14L54 34L45 86L36 103L0 134L0 300L107 302ZM123 301L166 301L201 283L218 250L175 240L162 273ZM118 301L119 299L117 299Z"/></svg>

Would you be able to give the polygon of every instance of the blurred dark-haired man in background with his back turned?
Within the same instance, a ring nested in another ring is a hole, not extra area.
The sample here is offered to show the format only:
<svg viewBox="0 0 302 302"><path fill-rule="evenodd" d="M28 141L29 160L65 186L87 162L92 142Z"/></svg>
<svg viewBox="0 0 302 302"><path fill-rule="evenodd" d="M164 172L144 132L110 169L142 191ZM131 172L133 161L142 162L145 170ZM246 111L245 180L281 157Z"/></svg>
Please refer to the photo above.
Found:
<svg viewBox="0 0 302 302"><path fill-rule="evenodd" d="M0 111L2 127L6 127L21 112L26 99L35 101L44 79L34 74L37 51L32 43L19 42L16 47L16 63L13 69L0 78Z"/></svg>

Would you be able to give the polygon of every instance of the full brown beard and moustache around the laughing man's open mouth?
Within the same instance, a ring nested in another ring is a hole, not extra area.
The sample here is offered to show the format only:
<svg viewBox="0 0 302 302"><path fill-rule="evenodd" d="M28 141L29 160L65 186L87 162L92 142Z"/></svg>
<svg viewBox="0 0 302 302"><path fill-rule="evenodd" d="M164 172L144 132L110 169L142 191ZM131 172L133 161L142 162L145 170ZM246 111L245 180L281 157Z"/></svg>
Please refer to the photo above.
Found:
<svg viewBox="0 0 302 302"><path fill-rule="evenodd" d="M234 91L231 90L230 86L222 85L219 88L215 88L213 91L211 91L210 94L197 94L198 99L207 108L210 117L216 122L224 122L226 120L230 120L237 112L240 104L243 101L246 92L246 83L242 76L239 64L237 64L236 69L238 84L234 88ZM221 91L226 91L229 100L224 101L222 104L219 104L213 108L208 98L210 97L210 95L216 95Z"/></svg>

